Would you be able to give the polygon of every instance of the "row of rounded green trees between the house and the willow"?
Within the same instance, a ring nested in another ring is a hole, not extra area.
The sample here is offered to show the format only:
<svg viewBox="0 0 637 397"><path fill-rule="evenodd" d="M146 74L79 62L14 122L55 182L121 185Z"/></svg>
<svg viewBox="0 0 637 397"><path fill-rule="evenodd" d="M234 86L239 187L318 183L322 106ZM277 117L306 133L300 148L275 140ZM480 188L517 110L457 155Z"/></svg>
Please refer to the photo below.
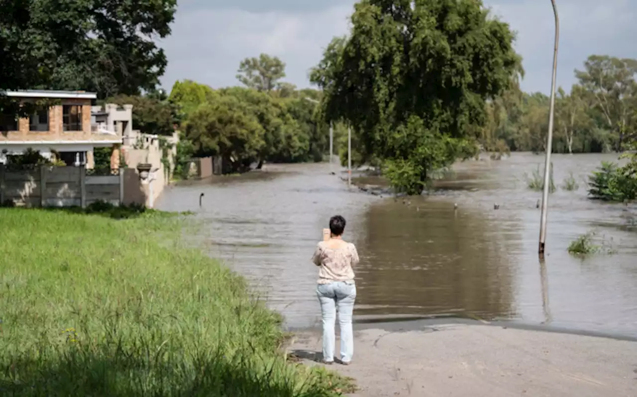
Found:
<svg viewBox="0 0 637 397"><path fill-rule="evenodd" d="M307 100L318 101L320 92L281 82L272 87L213 90L185 80L175 83L169 98L183 111L185 139L194 154L221 156L225 173L246 171L253 162L322 161L329 150L329 127Z"/></svg>

